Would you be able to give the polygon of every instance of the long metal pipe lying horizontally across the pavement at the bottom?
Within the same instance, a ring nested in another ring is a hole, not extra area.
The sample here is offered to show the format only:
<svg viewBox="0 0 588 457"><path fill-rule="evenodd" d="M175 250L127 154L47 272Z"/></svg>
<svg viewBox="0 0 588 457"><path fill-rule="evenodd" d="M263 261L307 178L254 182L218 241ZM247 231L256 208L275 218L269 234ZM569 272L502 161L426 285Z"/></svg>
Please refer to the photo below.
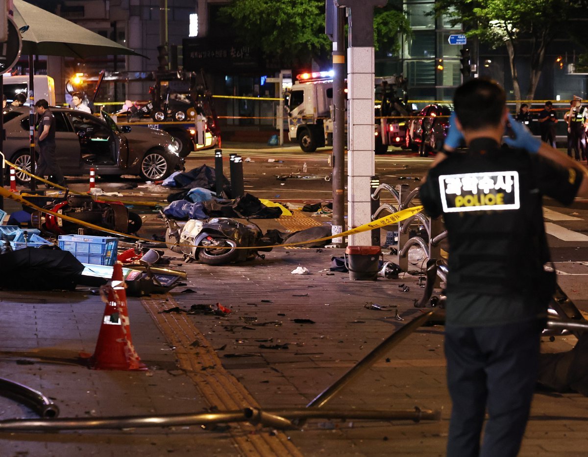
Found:
<svg viewBox="0 0 588 457"><path fill-rule="evenodd" d="M375 421L438 421L439 411L430 409L349 410L318 408L265 409L245 408L215 413L186 413L160 416L111 416L59 419L7 419L0 421L0 432L58 432L65 430L129 429L207 425L225 422L250 422L272 428L292 428L293 419L364 419Z"/></svg>

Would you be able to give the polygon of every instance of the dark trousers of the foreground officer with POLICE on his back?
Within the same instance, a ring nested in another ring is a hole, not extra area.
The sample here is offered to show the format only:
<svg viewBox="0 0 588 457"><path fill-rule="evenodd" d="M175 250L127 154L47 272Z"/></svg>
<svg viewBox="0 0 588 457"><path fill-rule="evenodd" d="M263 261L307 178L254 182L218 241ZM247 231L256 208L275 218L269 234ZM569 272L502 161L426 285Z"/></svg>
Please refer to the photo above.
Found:
<svg viewBox="0 0 588 457"><path fill-rule="evenodd" d="M537 380L542 329L542 321L446 326L447 385L453 402L448 457L517 455Z"/></svg>

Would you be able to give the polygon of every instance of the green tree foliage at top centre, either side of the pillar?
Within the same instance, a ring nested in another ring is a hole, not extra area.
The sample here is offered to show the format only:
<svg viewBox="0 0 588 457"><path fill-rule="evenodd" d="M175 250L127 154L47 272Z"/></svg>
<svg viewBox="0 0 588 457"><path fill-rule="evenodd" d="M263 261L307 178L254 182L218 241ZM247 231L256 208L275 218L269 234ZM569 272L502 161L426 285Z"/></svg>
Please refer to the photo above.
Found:
<svg viewBox="0 0 588 457"><path fill-rule="evenodd" d="M397 49L399 31L409 31L402 2L376 8L376 46ZM400 6L399 6L400 4ZM286 63L326 59L331 43L325 35L325 0L234 0L220 17L243 44L262 50L266 58Z"/></svg>

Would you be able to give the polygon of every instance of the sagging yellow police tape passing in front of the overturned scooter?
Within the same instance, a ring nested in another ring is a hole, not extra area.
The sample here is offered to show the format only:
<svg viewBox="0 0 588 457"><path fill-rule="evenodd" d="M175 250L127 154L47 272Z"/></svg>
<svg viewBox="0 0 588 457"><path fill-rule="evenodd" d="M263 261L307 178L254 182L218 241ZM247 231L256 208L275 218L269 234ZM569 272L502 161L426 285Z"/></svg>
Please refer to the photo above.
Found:
<svg viewBox="0 0 588 457"><path fill-rule="evenodd" d="M103 228L98 225L90 224L89 222L80 221L79 219L72 218L71 216L68 216L65 214L51 211L50 209L41 208L40 206L37 206L29 201L26 201L24 198L22 198L19 195L12 194L12 192L7 191L3 187L0 187L0 195L4 196L6 198L12 198L13 200L19 202L22 205L30 206L31 208L35 209L36 211L41 211L45 214L50 214L52 216L55 216L56 218L65 219L66 221L74 222L75 224L78 224L78 225L81 225L84 227L88 227L88 228L91 228L94 230L98 230L98 231L105 232L105 233L111 233L112 235L123 236L124 238L132 238L132 239L136 239L138 241L146 241L146 242L153 242L154 241L153 239L141 238L141 236L128 235L127 233L122 233L122 232L117 232L115 230L106 229L106 228ZM349 229L345 232L338 233L336 235L325 236L324 238L311 239L310 241L299 241L299 242L295 242L295 243L283 243L283 244L272 245L272 246L236 247L234 249L286 248L288 246L298 246L301 244L315 243L318 241L327 241L327 240L333 239L333 238L339 238L339 237L348 236L348 235L355 235L355 233L367 232L369 230L382 228L387 225L396 224L397 222L401 222L401 221L404 221L405 219L410 218L410 216L413 216L422 210L423 210L422 206L412 206L411 208L403 209L402 211L395 212L394 214L389 214L387 216L384 216L383 218L376 219L375 221L368 222L368 224L360 225L359 227ZM166 242L166 245L173 246L173 245L175 245L175 243ZM179 245L179 246L185 246L185 247L191 247L191 248L196 247L194 245ZM219 248L220 249L233 249L230 246L226 247L226 248L223 248L222 246L215 246L215 249L219 249Z"/></svg>

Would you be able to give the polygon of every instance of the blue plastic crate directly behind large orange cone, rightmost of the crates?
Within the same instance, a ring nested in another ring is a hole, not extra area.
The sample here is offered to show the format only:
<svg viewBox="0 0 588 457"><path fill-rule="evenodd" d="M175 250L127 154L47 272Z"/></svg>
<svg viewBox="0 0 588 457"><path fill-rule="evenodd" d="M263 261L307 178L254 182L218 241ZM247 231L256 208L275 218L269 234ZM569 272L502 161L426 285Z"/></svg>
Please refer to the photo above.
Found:
<svg viewBox="0 0 588 457"><path fill-rule="evenodd" d="M59 248L74 254L82 263L114 265L118 239L111 236L59 235Z"/></svg>

